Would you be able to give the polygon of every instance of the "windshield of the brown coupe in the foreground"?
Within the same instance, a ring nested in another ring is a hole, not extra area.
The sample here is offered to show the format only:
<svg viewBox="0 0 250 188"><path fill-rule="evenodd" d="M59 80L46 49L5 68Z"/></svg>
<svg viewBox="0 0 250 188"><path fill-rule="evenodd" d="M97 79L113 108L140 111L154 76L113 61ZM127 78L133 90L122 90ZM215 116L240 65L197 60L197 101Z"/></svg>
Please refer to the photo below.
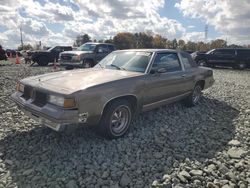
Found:
<svg viewBox="0 0 250 188"><path fill-rule="evenodd" d="M151 52L112 52L106 56L96 67L106 69L127 70L133 72L145 72L152 56Z"/></svg>

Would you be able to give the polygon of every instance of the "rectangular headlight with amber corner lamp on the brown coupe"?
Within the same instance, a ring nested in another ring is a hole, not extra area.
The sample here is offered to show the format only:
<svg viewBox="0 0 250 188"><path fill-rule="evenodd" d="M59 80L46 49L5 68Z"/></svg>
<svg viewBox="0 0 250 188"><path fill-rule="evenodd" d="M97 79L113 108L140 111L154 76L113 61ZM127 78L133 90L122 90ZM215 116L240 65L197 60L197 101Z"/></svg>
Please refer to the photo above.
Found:
<svg viewBox="0 0 250 188"><path fill-rule="evenodd" d="M65 99L64 97L49 95L48 102L64 108L75 108L75 99Z"/></svg>

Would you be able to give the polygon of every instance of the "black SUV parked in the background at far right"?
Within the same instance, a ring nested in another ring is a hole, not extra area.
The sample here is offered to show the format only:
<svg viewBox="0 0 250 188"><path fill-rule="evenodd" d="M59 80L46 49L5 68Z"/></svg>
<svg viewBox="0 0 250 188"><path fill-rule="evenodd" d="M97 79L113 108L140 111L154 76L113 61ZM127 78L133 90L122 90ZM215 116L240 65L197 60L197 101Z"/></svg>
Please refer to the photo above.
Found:
<svg viewBox="0 0 250 188"><path fill-rule="evenodd" d="M250 67L250 49L247 48L220 48L207 53L193 55L198 65L225 66L238 69Z"/></svg>

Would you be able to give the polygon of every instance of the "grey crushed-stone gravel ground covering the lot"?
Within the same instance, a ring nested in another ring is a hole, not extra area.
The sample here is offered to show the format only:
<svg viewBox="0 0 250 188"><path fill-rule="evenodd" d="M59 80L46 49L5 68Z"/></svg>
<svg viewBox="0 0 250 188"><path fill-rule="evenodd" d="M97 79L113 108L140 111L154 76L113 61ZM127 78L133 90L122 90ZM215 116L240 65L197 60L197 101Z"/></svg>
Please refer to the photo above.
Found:
<svg viewBox="0 0 250 188"><path fill-rule="evenodd" d="M24 116L16 81L52 67L0 66L0 187L250 186L250 72L215 69L201 104L137 117L108 141L89 128L56 133Z"/></svg>

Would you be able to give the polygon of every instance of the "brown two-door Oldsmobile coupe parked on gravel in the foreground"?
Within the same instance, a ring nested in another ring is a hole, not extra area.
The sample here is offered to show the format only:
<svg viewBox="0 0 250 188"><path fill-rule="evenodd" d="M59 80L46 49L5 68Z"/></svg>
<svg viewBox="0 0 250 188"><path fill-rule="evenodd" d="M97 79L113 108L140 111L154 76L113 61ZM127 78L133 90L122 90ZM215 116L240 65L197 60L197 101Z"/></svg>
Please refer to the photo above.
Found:
<svg viewBox="0 0 250 188"><path fill-rule="evenodd" d="M179 100L194 106L213 83L213 71L197 67L185 52L120 50L93 68L25 78L12 99L56 131L90 124L105 137L118 138L138 112Z"/></svg>

